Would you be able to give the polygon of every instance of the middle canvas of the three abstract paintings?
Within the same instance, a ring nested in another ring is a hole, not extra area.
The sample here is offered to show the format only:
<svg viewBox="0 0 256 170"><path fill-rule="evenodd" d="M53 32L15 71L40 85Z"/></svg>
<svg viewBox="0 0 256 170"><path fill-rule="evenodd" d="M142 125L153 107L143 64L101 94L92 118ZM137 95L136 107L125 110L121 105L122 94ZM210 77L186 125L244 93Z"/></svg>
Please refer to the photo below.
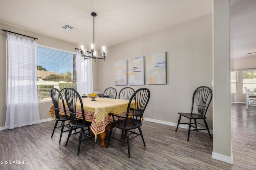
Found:
<svg viewBox="0 0 256 170"><path fill-rule="evenodd" d="M128 60L129 85L144 85L144 57Z"/></svg>

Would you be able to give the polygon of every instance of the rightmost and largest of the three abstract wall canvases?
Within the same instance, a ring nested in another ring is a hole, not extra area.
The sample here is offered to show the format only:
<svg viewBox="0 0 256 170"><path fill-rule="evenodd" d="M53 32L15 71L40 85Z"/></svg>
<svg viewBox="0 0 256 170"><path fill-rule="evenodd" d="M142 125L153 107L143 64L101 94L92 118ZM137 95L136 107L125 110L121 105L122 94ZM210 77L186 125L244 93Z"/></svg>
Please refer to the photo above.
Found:
<svg viewBox="0 0 256 170"><path fill-rule="evenodd" d="M166 84L166 53L146 56L147 84Z"/></svg>

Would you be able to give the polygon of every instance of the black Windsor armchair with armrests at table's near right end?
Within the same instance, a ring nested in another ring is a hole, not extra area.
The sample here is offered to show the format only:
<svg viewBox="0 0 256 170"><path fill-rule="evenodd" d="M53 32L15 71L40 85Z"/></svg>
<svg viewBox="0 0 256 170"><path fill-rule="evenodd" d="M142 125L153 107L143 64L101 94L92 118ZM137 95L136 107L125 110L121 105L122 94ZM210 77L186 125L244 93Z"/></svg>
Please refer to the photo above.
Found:
<svg viewBox="0 0 256 170"><path fill-rule="evenodd" d="M128 103L127 112L125 116L109 113L109 115L112 115L113 123L111 124L111 127L110 127L110 132L108 135L108 144L106 145L106 147L109 146L110 138L123 143L127 143L129 158L130 158L130 140L131 139L137 136L141 136L144 146L146 147L140 127L142 126L141 119L146 109L146 106L148 104L149 98L150 98L150 91L147 88L140 88L136 90L134 94L132 94L130 101ZM135 108L130 108L131 102L134 102L134 101L135 101ZM132 115L129 116L130 110L132 110ZM115 117L118 117L118 120L115 120L114 119ZM123 120L121 120L122 118ZM121 129L122 131L125 131L125 135L119 139L111 137L113 127L116 127L118 129ZM133 130L137 128L139 130L139 133ZM134 134L135 136L133 135L132 138L130 138L130 135L132 134ZM126 141L124 140L125 138L126 138Z"/></svg>

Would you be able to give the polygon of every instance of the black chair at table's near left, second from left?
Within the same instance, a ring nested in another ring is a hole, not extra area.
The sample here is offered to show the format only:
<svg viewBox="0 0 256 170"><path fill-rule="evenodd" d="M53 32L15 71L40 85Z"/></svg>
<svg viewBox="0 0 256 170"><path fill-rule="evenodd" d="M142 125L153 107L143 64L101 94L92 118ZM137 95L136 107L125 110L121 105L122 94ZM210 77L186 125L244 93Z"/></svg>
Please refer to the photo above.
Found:
<svg viewBox="0 0 256 170"><path fill-rule="evenodd" d="M76 137L79 139L79 143L78 143L78 152L77 152L77 156L79 155L80 152L80 145L81 145L81 141L85 141L87 139L91 139L93 136L90 135L90 125L92 124L92 122L88 122L85 120L84 118L84 110L81 109L82 111L82 117L83 119L78 119L76 118L76 103L80 102L81 104L81 108L83 108L83 102L81 99L81 96L79 95L79 93L74 89L74 88L66 88L65 90L65 98L66 98L66 103L68 105L68 109L69 109L69 114L70 114L70 131L68 133L68 139L70 137L70 135ZM84 127L87 127L88 129L88 134L84 133ZM79 129L80 131L75 131L74 133L72 133L72 130L76 130ZM76 135L77 133L79 134L79 137ZM82 135L85 135L86 138L82 140ZM66 141L66 145L68 144L68 139Z"/></svg>

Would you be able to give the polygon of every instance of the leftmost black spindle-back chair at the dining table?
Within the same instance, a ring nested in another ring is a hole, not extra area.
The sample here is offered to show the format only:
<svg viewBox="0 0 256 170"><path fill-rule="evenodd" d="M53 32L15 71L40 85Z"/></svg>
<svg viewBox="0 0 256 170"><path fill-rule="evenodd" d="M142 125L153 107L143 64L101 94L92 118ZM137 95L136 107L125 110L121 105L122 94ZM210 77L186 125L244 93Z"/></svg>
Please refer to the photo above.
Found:
<svg viewBox="0 0 256 170"><path fill-rule="evenodd" d="M60 129L60 141L61 141L62 133L66 132L66 131L69 131L69 129L70 129L68 124L65 125L65 121L70 120L70 116L68 116L66 114L66 109L65 109L65 105L64 105L63 96L57 88L52 88L51 89L51 98L52 98L52 103L54 105L55 120L56 120L55 125L54 125L54 129L52 131L52 136L53 136L54 131L55 131L56 128ZM60 100L62 101L65 115L60 115L60 112L59 112L59 102L60 102ZM61 126L58 126L58 121L61 121ZM67 127L68 130L64 131L64 127ZM60 141L59 141L59 143L60 143Z"/></svg>

